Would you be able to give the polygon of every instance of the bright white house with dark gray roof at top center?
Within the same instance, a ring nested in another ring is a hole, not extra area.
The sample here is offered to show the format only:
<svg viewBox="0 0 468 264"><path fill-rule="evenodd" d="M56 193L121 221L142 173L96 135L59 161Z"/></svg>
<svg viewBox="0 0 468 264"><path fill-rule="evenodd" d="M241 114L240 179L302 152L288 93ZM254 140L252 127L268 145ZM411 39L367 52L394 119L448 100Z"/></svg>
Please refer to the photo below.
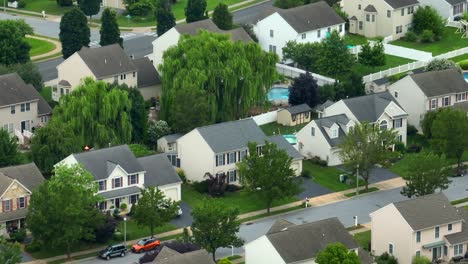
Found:
<svg viewBox="0 0 468 264"><path fill-rule="evenodd" d="M268 8L254 25L258 43L265 51L283 58L288 41L320 42L332 30L345 35L345 21L324 1L290 9Z"/></svg>

